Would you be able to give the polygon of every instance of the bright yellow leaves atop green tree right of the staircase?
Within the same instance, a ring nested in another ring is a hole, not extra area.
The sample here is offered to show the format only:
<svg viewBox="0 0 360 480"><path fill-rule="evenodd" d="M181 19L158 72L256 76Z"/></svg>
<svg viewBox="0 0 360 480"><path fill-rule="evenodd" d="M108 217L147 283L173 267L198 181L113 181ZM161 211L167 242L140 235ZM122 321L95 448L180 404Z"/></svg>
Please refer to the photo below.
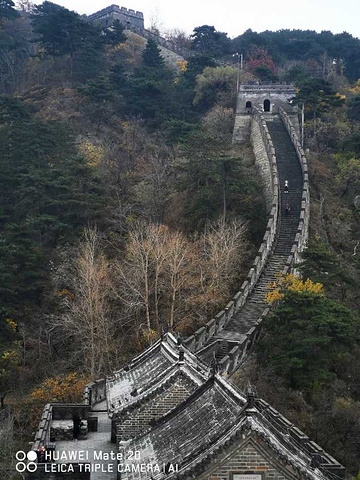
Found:
<svg viewBox="0 0 360 480"><path fill-rule="evenodd" d="M288 275L278 275L277 281L269 283L267 289L269 291L266 293L265 299L266 303L269 304L281 301L287 291L296 293L314 293L315 295L322 297L325 295L322 283L314 283L310 278L303 281L292 273Z"/></svg>

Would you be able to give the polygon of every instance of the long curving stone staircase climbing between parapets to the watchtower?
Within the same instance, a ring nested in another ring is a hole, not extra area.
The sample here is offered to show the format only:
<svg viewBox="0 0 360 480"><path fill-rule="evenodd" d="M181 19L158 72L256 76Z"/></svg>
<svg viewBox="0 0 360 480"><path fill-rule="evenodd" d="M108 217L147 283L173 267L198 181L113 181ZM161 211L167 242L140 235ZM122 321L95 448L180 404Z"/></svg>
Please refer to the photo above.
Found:
<svg viewBox="0 0 360 480"><path fill-rule="evenodd" d="M271 121L267 121L267 127L275 148L281 186L280 225L275 246L245 305L231 318L225 328L198 352L198 356L207 362L213 358L214 351L218 361L224 358L234 344L243 342L248 332L256 325L267 307L265 303L267 286L270 282L276 281L279 273L284 272L297 233L303 188L301 166L294 145L280 117L273 115ZM289 182L289 193L284 192L285 180ZM290 206L288 212L285 211L287 205ZM216 347L209 349L210 343L214 343Z"/></svg>

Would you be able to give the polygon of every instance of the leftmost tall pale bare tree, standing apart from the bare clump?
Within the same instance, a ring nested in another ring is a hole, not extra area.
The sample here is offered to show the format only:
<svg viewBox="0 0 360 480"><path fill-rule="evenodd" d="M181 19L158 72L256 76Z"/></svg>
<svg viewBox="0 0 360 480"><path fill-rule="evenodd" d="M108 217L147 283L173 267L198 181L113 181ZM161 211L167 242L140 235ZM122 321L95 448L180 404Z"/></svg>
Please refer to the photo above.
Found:
<svg viewBox="0 0 360 480"><path fill-rule="evenodd" d="M75 354L89 365L91 378L112 368L114 325L111 320L109 263L100 249L96 228L84 232L75 259L73 293L64 297L63 315L52 318L53 334L73 341Z"/></svg>

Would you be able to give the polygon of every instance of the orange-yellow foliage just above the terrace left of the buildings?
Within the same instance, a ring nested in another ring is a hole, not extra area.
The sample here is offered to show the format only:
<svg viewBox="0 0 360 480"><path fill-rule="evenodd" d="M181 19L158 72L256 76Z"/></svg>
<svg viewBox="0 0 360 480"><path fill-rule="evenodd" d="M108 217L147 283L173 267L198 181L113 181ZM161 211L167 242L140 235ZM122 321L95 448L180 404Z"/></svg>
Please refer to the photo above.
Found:
<svg viewBox="0 0 360 480"><path fill-rule="evenodd" d="M76 372L46 379L29 395L30 400L46 402L79 402L88 379Z"/></svg>

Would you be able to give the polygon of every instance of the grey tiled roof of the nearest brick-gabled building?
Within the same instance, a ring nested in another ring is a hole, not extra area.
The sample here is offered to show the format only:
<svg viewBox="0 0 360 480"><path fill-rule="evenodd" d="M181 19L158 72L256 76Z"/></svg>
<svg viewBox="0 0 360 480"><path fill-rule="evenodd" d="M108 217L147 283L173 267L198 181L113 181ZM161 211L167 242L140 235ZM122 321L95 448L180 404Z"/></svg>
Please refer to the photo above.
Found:
<svg viewBox="0 0 360 480"><path fill-rule="evenodd" d="M139 464L178 464L177 473L152 474L154 480L170 480L185 478L200 465L204 471L221 449L239 441L239 434L255 433L276 457L292 465L303 478L325 480L332 478L331 473L343 474L344 469L336 460L266 402L258 400L251 407L249 405L237 390L217 375L165 416L156 428L130 443L120 444L120 451L124 458L127 450L140 451ZM140 470L125 471L121 478L143 480L149 477Z"/></svg>

